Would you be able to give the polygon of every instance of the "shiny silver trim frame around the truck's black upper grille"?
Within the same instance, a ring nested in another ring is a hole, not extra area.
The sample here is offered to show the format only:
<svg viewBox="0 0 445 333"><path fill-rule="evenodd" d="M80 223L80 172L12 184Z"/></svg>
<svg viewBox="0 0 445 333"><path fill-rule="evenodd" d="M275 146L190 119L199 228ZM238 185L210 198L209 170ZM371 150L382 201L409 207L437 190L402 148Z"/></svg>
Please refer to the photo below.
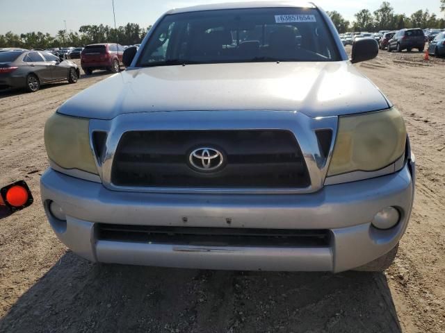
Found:
<svg viewBox="0 0 445 333"><path fill-rule="evenodd" d="M296 111L172 111L120 114L111 120L90 120L90 142L95 131L108 133L103 160L97 168L102 183L114 191L149 193L207 193L207 194L299 194L313 193L323 187L327 167L337 137L338 117L311 118ZM330 153L320 151L316 130L332 130ZM296 189L243 189L243 188L172 188L120 187L111 181L115 151L122 135L133 130L289 130L295 135L305 158L311 185Z"/></svg>

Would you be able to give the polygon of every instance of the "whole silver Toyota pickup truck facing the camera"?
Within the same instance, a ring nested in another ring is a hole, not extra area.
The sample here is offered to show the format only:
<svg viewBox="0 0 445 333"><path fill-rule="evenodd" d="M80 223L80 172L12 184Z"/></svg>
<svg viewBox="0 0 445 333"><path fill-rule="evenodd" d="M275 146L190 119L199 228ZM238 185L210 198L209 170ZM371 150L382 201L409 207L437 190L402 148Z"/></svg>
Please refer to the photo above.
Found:
<svg viewBox="0 0 445 333"><path fill-rule="evenodd" d="M41 180L60 241L92 262L381 271L414 196L394 105L311 3L171 10L127 69L47 121Z"/></svg>

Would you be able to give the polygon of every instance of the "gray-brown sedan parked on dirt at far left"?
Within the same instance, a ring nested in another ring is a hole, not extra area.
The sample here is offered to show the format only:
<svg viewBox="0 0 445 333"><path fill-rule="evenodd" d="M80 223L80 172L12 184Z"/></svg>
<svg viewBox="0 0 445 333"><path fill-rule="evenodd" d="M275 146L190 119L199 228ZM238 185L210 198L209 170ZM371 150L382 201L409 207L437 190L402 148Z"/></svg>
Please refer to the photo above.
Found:
<svg viewBox="0 0 445 333"><path fill-rule="evenodd" d="M79 67L70 61L40 51L0 53L0 89L25 88L37 92L41 85L67 80L76 83Z"/></svg>

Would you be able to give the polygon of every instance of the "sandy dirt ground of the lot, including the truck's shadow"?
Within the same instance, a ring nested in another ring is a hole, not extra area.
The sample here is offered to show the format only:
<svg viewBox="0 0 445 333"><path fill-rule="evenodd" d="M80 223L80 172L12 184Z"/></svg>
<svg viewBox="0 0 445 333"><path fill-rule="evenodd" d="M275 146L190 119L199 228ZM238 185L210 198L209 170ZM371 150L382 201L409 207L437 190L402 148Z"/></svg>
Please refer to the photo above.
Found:
<svg viewBox="0 0 445 333"><path fill-rule="evenodd" d="M350 47L348 47L350 49ZM445 60L387 53L357 65L405 116L415 207L385 273L258 273L90 264L40 204L45 120L108 76L0 94L0 184L35 203L0 221L0 332L445 332Z"/></svg>

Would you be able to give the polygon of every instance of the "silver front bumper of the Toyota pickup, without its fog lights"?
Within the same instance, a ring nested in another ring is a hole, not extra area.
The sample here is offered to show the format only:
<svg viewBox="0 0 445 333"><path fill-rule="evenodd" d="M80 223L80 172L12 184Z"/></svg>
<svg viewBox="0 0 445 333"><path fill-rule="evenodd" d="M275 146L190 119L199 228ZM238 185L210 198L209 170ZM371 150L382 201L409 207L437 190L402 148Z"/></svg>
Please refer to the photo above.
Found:
<svg viewBox="0 0 445 333"><path fill-rule="evenodd" d="M346 271L394 248L407 228L414 162L389 176L325 186L313 194L149 194L111 191L52 169L41 179L49 223L74 253L92 262L264 271ZM54 219L60 205L67 221ZM390 230L371 225L385 207L401 212ZM227 219L231 223L227 224ZM183 246L99 239L97 223L178 227L327 229L330 245Z"/></svg>

